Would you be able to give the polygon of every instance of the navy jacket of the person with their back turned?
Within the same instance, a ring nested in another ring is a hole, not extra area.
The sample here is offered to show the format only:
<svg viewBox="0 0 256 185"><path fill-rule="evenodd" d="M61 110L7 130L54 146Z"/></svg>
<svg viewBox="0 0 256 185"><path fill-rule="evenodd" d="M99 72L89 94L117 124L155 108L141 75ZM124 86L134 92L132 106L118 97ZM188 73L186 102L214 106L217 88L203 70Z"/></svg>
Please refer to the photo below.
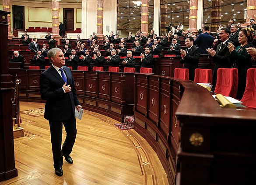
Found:
<svg viewBox="0 0 256 185"><path fill-rule="evenodd" d="M200 54L207 54L206 49L211 48L214 42L214 37L209 33L199 34L194 41L193 45L197 45L200 48Z"/></svg>

